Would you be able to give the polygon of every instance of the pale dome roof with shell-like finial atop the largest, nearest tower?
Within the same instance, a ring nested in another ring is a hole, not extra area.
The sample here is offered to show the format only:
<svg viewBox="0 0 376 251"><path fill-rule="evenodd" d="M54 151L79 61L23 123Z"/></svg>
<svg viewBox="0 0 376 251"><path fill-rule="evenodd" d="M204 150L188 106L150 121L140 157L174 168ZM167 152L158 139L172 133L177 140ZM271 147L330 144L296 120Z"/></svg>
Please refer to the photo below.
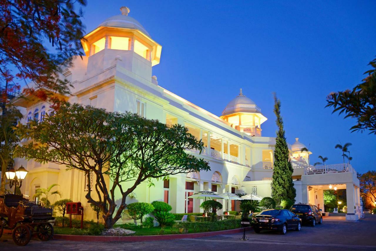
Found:
<svg viewBox="0 0 376 251"><path fill-rule="evenodd" d="M120 8L121 15L115 15L107 18L103 23L99 24L98 27L114 27L114 28L125 28L125 29L135 29L143 32L145 35L149 36L144 26L142 26L137 20L128 16L130 12L128 7Z"/></svg>

